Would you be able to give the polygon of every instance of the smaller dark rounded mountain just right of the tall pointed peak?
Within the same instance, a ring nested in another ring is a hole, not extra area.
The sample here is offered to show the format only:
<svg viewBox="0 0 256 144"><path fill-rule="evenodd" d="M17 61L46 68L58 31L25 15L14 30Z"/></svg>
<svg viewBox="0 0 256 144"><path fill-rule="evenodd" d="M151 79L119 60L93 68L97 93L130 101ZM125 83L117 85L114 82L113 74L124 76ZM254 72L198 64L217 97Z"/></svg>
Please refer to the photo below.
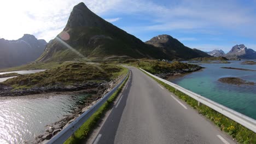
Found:
<svg viewBox="0 0 256 144"><path fill-rule="evenodd" d="M153 45L158 47L161 51L172 58L183 58L183 59L191 59L196 57L211 57L207 53L197 50L197 49L190 49L187 46L184 46L180 41L174 39L170 35L158 35L146 41L146 44Z"/></svg>

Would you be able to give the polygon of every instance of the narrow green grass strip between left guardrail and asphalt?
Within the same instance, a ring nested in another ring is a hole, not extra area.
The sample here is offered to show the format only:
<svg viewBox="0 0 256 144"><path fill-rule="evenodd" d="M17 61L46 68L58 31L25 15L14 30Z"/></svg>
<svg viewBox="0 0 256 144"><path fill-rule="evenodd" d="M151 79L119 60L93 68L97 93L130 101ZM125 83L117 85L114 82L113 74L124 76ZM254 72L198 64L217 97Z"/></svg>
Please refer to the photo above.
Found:
<svg viewBox="0 0 256 144"><path fill-rule="evenodd" d="M126 69L126 73L129 70ZM126 80L123 82L123 84L118 88L118 90L113 93L109 99L104 103L77 131L75 131L74 136L69 137L65 144L68 143L80 143L86 137L91 133L91 131L96 127L96 124L98 121L104 116L106 111L110 108L110 106L113 104L114 100L117 98L119 93L122 91L126 81L129 79L129 76L126 78Z"/></svg>

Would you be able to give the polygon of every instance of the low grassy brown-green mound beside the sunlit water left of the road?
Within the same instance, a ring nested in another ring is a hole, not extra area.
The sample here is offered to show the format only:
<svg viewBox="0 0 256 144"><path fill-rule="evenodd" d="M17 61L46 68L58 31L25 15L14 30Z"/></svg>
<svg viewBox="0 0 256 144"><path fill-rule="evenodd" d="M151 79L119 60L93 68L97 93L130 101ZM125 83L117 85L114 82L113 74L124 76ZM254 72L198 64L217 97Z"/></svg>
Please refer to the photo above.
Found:
<svg viewBox="0 0 256 144"><path fill-rule="evenodd" d="M40 73L21 75L3 83L15 89L45 87L54 85L74 85L88 81L110 81L124 73L124 68L111 64L86 64L66 62Z"/></svg>

